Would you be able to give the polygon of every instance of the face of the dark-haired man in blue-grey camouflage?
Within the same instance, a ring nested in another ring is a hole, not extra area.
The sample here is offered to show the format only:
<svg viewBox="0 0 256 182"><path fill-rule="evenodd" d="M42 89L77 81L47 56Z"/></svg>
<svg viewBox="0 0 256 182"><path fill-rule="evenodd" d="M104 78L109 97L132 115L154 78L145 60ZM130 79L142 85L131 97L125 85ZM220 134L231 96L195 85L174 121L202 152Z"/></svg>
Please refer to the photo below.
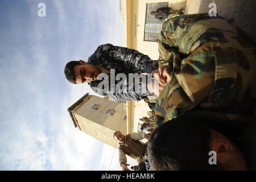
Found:
<svg viewBox="0 0 256 182"><path fill-rule="evenodd" d="M85 61L80 60L80 65L74 67L74 76L76 84L88 83L93 80L97 80L98 75L101 73L100 67L92 64L88 64Z"/></svg>

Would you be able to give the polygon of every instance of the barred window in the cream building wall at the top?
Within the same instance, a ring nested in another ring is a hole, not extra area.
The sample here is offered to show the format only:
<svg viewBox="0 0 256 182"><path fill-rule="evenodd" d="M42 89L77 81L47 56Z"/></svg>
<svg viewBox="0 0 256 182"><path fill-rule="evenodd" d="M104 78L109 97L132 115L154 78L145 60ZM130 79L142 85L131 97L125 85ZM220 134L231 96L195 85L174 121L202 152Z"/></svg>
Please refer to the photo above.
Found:
<svg viewBox="0 0 256 182"><path fill-rule="evenodd" d="M164 20L160 21L150 13L151 11L156 11L159 7L168 7L168 2L147 3L145 29L144 29L144 41L155 42L156 39L158 39L159 32L162 28L162 24Z"/></svg>

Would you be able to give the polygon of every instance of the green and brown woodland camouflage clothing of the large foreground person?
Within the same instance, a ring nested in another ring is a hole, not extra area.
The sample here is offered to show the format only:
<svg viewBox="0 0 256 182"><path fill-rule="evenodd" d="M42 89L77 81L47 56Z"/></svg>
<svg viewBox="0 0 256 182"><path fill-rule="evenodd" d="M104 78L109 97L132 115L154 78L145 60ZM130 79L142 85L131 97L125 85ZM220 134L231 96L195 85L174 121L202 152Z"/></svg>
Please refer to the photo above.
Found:
<svg viewBox="0 0 256 182"><path fill-rule="evenodd" d="M156 100L157 125L191 109L255 114L255 44L233 24L203 14L168 19L159 54L172 72Z"/></svg>

